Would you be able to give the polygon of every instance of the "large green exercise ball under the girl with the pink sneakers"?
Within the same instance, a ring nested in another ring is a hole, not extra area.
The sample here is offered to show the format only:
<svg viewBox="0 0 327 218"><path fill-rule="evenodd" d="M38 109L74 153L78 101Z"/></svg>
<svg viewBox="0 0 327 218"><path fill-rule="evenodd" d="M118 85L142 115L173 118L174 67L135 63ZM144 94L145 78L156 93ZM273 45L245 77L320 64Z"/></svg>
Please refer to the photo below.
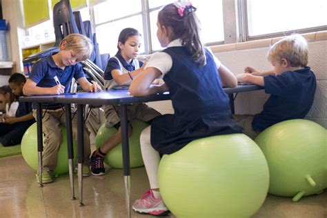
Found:
<svg viewBox="0 0 327 218"><path fill-rule="evenodd" d="M268 165L244 134L197 139L164 155L159 188L177 217L250 217L264 203Z"/></svg>

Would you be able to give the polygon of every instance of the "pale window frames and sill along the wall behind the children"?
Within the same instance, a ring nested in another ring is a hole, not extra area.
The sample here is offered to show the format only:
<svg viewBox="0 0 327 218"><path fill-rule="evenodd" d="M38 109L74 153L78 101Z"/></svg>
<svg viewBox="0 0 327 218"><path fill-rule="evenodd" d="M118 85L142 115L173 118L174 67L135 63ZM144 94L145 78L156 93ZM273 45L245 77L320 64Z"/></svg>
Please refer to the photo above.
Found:
<svg viewBox="0 0 327 218"><path fill-rule="evenodd" d="M128 14L117 19L112 19L110 21L103 21L101 23L95 23L95 12L93 8L90 8L90 17L93 26L93 31L96 32L97 26L104 25L106 23L119 21L121 19L126 19L136 15L142 17L143 22L143 41L144 41L144 50L145 54L151 54L157 50L152 49L152 39L151 32L155 30L150 29L150 12L159 10L162 6L157 6L155 8L149 8L148 0L139 0L141 1L141 12ZM308 32L318 32L322 30L327 30L327 26L319 26L314 28L304 28L297 30L288 30L283 32L273 32L270 34L261 34L255 36L248 35L248 0L222 0L223 7L223 19L224 19L224 41L212 41L205 43L205 46L219 46L223 44L230 43L239 43L244 41L255 41L259 39L270 39L275 37L283 37L293 32L299 34L308 33Z"/></svg>

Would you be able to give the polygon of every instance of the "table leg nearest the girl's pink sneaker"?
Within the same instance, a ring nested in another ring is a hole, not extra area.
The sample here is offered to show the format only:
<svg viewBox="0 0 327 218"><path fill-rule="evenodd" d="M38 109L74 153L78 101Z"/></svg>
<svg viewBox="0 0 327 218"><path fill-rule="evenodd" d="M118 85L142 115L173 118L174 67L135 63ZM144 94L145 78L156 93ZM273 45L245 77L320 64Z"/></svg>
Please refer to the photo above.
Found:
<svg viewBox="0 0 327 218"><path fill-rule="evenodd" d="M125 202L127 217L130 218L130 150L128 146L127 106L121 106L121 145L123 149L123 175L125 182Z"/></svg>

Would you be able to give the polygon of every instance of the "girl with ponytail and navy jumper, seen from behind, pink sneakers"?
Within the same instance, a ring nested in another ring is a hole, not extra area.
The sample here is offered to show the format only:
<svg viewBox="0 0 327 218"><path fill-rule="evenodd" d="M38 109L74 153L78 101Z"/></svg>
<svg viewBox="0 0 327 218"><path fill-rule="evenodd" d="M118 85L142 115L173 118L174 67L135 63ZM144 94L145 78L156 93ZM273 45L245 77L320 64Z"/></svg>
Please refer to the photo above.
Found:
<svg viewBox="0 0 327 218"><path fill-rule="evenodd" d="M174 115L154 119L141 133L141 152L150 190L133 204L137 212L168 213L159 192L159 153L171 154L194 139L242 132L232 119L229 99L222 88L237 86L237 79L204 48L195 10L190 2L177 2L159 12L157 37L161 46L167 48L153 54L146 69L130 85L131 95L137 97L169 90L175 110ZM165 83L152 85L159 77Z"/></svg>

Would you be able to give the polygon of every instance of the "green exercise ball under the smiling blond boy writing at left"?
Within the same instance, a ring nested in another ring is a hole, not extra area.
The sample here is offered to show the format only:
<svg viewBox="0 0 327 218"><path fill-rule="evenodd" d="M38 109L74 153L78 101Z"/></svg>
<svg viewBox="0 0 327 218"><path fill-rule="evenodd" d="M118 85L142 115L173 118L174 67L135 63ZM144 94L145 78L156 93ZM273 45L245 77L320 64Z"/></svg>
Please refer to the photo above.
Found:
<svg viewBox="0 0 327 218"><path fill-rule="evenodd" d="M63 143L59 148L57 168L55 168L54 170L54 175L63 174L69 171L67 136L65 126L61 126L61 133L63 135ZM73 148L75 154L74 162L76 162L77 141L73 141ZM25 159L26 163L31 168L33 168L34 170L38 170L37 123L33 123L23 135L23 139L21 139L21 154L23 155L23 158Z"/></svg>

